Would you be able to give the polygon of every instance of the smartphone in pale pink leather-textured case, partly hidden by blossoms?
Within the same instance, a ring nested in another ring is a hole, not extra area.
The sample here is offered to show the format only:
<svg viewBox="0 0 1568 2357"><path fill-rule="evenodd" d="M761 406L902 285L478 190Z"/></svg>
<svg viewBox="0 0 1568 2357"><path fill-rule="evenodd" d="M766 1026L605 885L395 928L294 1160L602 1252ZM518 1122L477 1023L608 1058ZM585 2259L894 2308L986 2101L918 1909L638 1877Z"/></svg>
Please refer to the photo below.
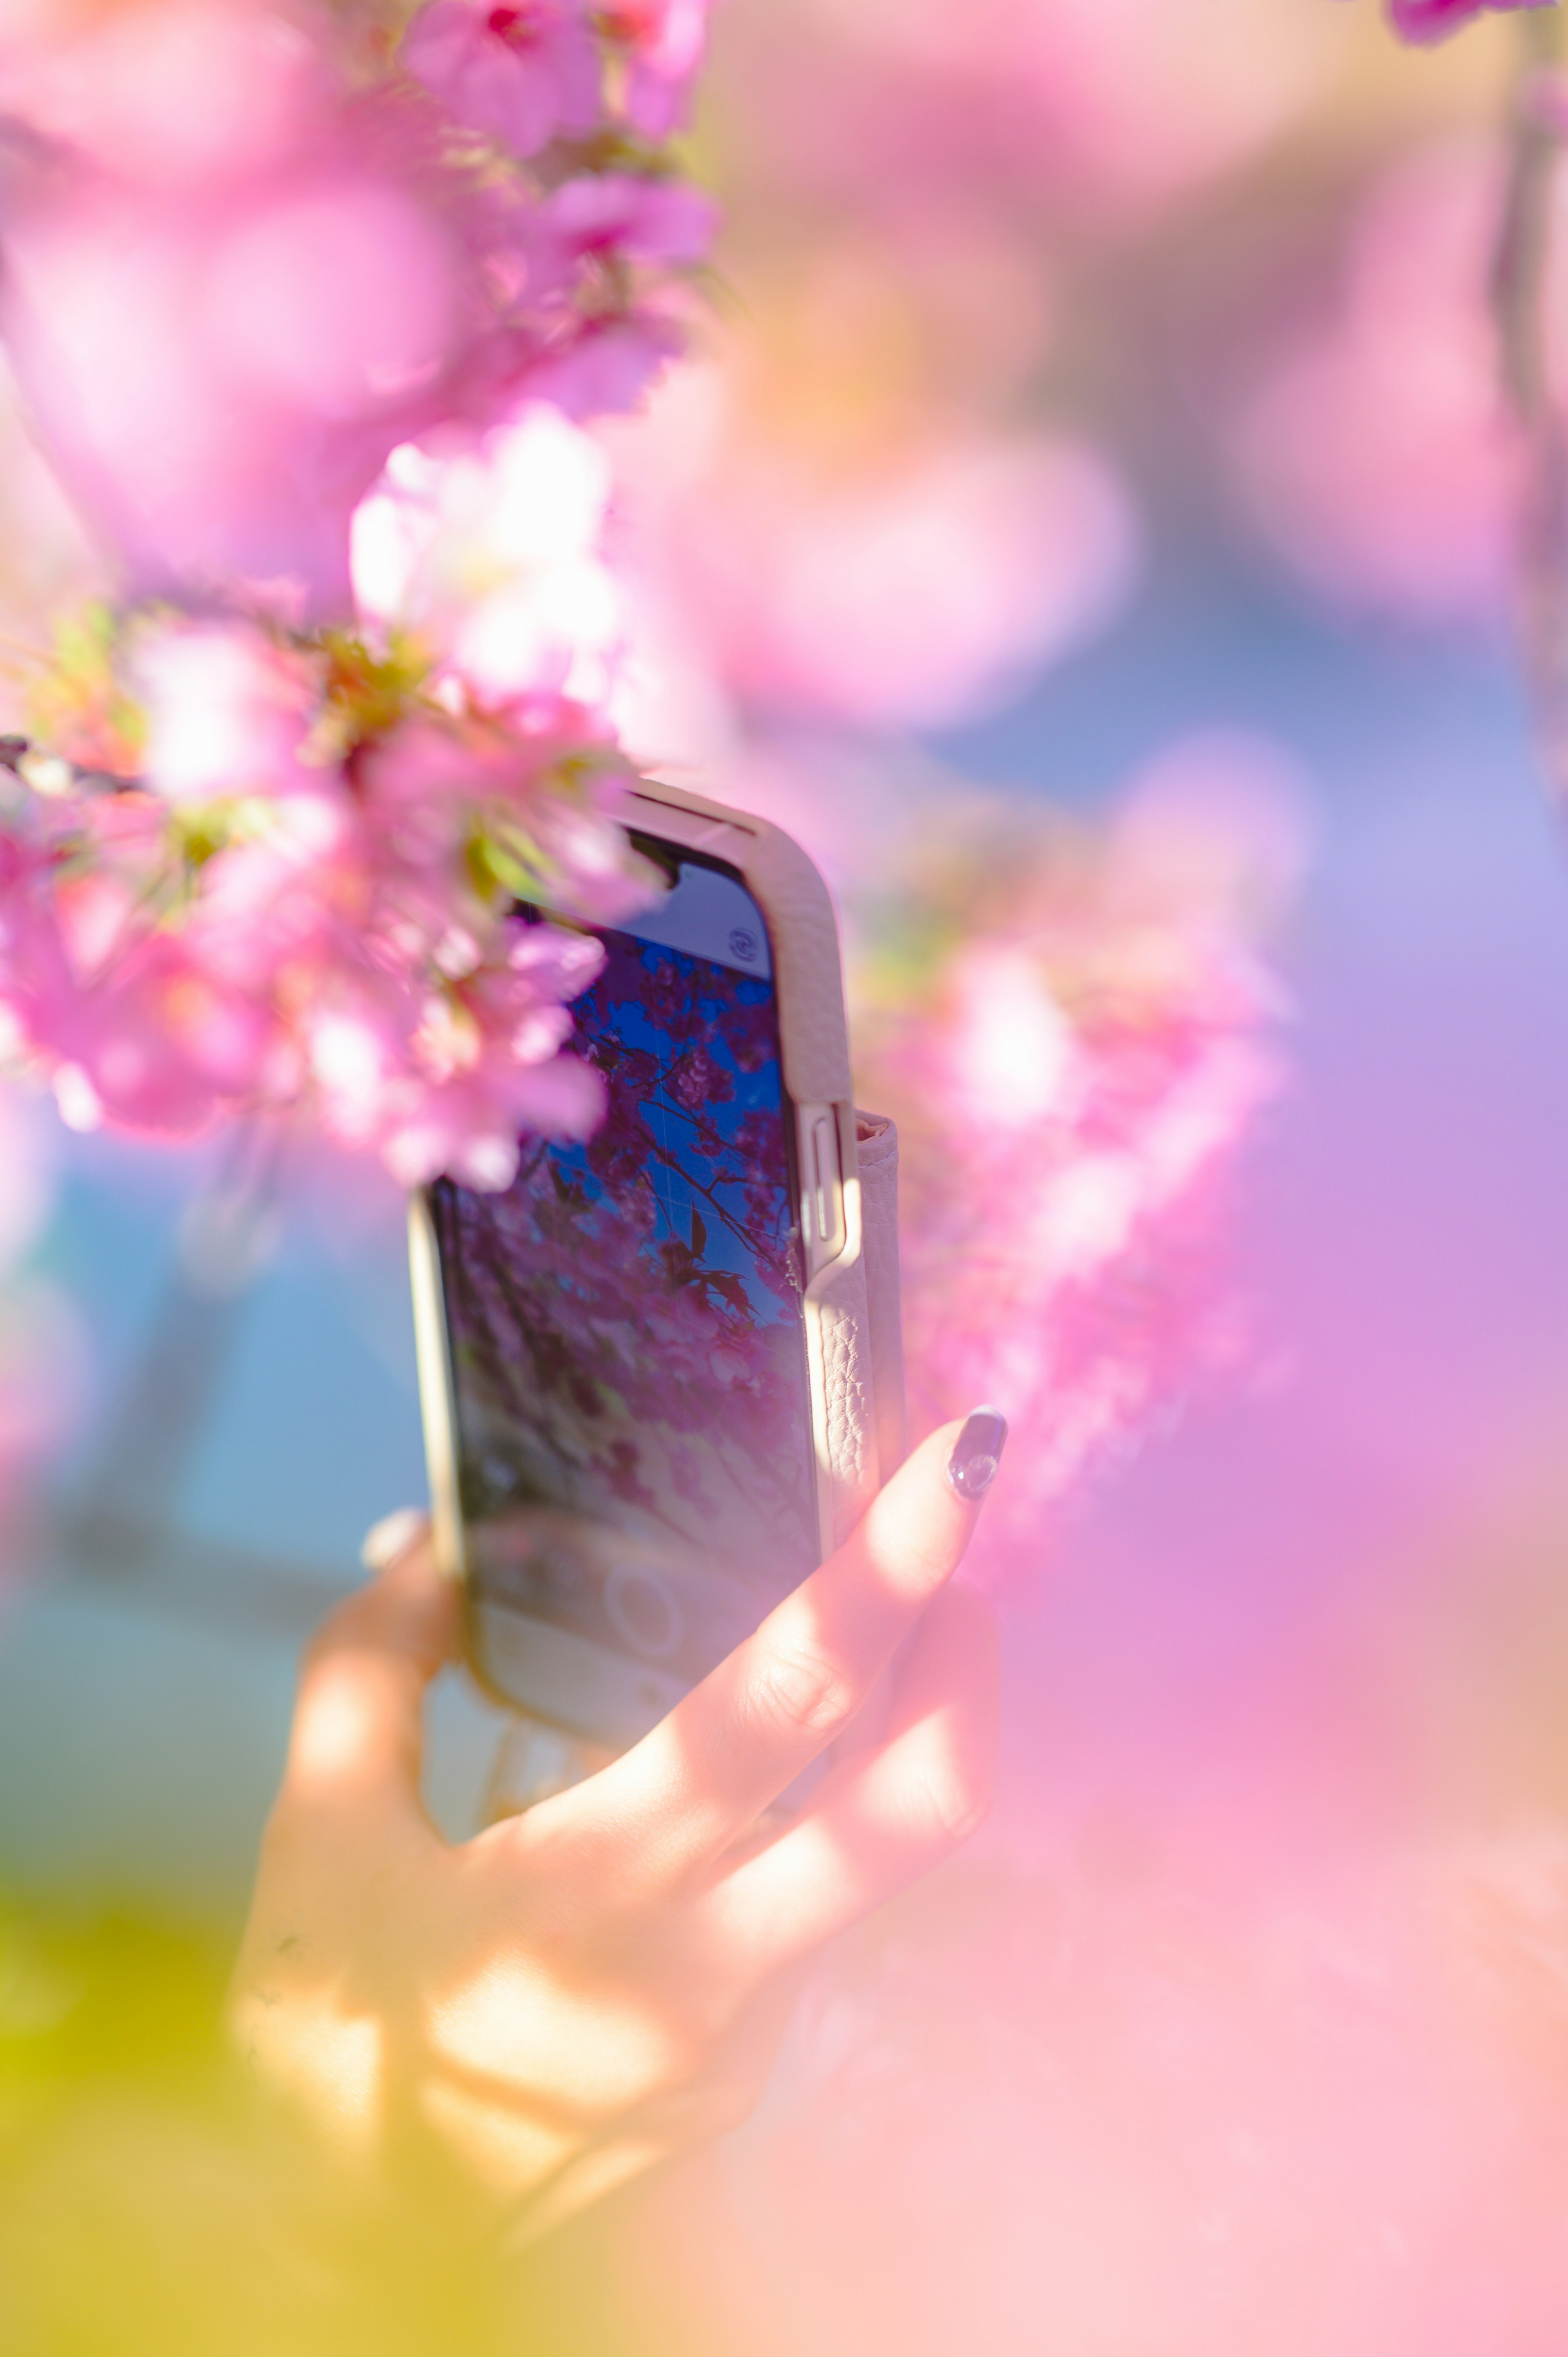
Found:
<svg viewBox="0 0 1568 2357"><path fill-rule="evenodd" d="M608 1749L875 1487L868 1409L842 1461L832 1365L861 1216L825 886L778 830L665 787L632 839L667 891L594 926L604 966L573 1006L601 1127L528 1138L502 1195L439 1178L410 1216L436 1546L472 1664Z"/></svg>

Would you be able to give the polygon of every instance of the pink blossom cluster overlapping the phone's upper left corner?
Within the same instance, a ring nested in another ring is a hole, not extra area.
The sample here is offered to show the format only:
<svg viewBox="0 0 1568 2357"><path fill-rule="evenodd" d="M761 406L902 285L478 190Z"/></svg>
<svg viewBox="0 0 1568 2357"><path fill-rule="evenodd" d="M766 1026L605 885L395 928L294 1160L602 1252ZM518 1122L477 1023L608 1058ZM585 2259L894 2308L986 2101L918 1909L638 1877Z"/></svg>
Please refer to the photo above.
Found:
<svg viewBox="0 0 1568 2357"><path fill-rule="evenodd" d="M111 653L146 783L5 771L0 1009L66 1120L299 1108L403 1181L474 1186L509 1181L519 1131L592 1127L564 1002L599 948L509 915L651 893L592 709L389 712L370 658L250 622L132 620Z"/></svg>

